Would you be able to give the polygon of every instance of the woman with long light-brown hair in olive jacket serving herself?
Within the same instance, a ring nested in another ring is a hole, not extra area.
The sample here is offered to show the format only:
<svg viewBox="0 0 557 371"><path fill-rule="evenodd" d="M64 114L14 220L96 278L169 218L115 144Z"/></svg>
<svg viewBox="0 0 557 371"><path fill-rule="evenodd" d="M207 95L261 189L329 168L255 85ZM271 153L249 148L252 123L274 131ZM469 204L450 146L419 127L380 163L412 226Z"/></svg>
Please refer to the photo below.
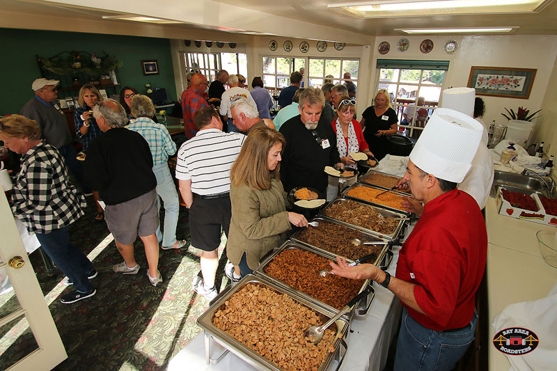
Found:
<svg viewBox="0 0 557 371"><path fill-rule="evenodd" d="M265 253L281 246L292 228L290 223L308 226L303 215L286 211L279 175L285 143L276 130L253 129L230 169L232 219L226 255L235 266L233 282L240 279L240 273L243 277L256 269Z"/></svg>

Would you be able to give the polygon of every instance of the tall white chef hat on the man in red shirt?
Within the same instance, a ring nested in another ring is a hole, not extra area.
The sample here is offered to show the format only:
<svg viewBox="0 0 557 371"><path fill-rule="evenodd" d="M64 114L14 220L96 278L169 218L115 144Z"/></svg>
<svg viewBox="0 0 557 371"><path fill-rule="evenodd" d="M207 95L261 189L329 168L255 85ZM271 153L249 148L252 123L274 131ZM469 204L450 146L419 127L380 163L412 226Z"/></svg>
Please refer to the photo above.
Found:
<svg viewBox="0 0 557 371"><path fill-rule="evenodd" d="M482 134L483 125L470 116L438 108L414 145L410 159L428 174L460 183L471 167Z"/></svg>

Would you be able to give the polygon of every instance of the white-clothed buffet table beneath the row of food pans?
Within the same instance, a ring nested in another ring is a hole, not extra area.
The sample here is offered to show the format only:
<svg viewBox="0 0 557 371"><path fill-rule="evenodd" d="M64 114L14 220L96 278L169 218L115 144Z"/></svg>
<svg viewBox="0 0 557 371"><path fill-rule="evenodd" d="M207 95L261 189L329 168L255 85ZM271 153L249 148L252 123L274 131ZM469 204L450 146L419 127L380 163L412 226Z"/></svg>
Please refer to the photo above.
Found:
<svg viewBox="0 0 557 371"><path fill-rule="evenodd" d="M407 234L412 230L408 228ZM394 276L400 246L393 247L393 260L387 271ZM382 370L386 363L391 340L398 330L402 306L394 294L384 287L373 284L375 298L368 314L352 319L348 350L340 370ZM218 358L223 348L212 344L211 358ZM168 370L256 370L235 354L228 353L219 363L205 363L205 338L200 333L168 363Z"/></svg>

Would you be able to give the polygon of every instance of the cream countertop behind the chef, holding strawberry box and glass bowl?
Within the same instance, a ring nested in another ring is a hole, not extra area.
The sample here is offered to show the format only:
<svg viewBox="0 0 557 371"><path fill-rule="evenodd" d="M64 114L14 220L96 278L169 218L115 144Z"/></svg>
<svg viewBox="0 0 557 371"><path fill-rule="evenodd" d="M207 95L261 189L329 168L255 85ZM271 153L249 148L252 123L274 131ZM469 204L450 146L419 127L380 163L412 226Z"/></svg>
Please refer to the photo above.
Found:
<svg viewBox="0 0 557 371"><path fill-rule="evenodd" d="M557 283L557 269L542 258L538 230L557 228L544 226L498 214L494 198L485 206L487 226L487 298L489 311L489 370L509 370L505 354L492 342L493 319L506 306L521 301L542 299ZM535 332L535 329L531 329Z"/></svg>

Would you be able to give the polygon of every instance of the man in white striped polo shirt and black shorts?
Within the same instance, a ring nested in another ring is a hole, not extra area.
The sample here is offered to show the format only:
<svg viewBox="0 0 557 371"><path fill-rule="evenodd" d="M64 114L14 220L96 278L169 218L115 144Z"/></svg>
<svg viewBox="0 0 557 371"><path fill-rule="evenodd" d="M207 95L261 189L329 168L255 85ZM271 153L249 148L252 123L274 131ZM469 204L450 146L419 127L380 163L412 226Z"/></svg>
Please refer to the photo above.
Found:
<svg viewBox="0 0 557 371"><path fill-rule="evenodd" d="M217 248L221 228L228 237L230 227L230 168L246 136L223 133L219 113L212 107L198 109L194 116L196 136L178 150L176 178L189 209L191 245L203 250L201 274L194 279L194 290L207 298L217 296L214 277L219 265Z"/></svg>

